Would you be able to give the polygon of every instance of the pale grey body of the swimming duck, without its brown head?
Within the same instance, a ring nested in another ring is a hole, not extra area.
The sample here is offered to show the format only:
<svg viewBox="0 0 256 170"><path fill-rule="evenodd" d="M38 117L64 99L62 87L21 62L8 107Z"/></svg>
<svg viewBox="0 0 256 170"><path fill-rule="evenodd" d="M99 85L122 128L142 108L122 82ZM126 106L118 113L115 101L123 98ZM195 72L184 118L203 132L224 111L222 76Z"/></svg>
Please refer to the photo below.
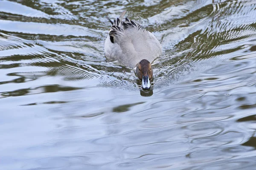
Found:
<svg viewBox="0 0 256 170"><path fill-rule="evenodd" d="M108 59L118 60L122 65L131 68L142 59L153 62L162 54L162 46L157 38L127 18L125 21L114 21L104 48Z"/></svg>

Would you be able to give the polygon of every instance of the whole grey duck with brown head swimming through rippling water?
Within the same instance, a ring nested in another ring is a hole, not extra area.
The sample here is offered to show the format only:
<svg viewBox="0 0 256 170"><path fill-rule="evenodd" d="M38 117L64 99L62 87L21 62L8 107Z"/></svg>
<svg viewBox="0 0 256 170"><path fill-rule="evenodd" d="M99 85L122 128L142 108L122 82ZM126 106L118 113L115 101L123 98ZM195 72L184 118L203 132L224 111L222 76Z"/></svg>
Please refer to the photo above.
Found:
<svg viewBox="0 0 256 170"><path fill-rule="evenodd" d="M151 88L153 69L151 63L162 54L157 38L140 24L129 20L123 11L116 20L108 20L112 26L105 40L105 56L121 65L134 68L142 88Z"/></svg>

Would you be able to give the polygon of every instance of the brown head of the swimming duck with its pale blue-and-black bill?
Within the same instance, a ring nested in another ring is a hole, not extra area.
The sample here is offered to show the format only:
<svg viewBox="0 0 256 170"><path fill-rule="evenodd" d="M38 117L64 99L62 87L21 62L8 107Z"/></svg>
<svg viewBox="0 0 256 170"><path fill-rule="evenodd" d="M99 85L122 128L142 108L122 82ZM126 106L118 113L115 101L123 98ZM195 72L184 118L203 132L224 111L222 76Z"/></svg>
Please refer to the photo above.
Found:
<svg viewBox="0 0 256 170"><path fill-rule="evenodd" d="M149 89L151 87L150 80L153 77L153 69L151 69L151 64L148 60L141 60L136 67L137 77L142 80L142 88Z"/></svg>

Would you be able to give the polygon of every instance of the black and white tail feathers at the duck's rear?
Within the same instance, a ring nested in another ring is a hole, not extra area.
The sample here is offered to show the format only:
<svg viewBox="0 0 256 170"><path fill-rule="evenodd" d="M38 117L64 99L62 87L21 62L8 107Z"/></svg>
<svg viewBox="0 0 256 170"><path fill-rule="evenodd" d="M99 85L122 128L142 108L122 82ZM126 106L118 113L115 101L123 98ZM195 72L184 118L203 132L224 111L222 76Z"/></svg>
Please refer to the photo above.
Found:
<svg viewBox="0 0 256 170"><path fill-rule="evenodd" d="M108 20L111 22L112 27L109 31L109 37L112 43L115 42L115 38L123 35L123 31L128 28L136 28L138 31L147 31L143 26L140 24L134 23L132 20L129 20L127 17L125 18L125 21L123 21L123 17L125 15L126 11L123 11L119 18L112 21L108 18Z"/></svg>

